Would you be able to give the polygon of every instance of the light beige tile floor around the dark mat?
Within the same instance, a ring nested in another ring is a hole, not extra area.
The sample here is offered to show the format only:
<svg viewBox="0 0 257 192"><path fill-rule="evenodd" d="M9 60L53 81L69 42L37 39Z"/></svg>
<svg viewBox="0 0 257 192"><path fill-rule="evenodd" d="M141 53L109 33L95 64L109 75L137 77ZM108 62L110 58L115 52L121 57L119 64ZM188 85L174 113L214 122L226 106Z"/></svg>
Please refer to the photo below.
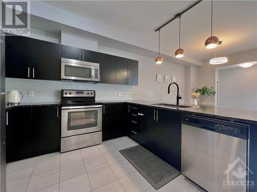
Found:
<svg viewBox="0 0 257 192"><path fill-rule="evenodd" d="M7 164L7 192L153 192L120 153L137 143L128 137L67 153L51 153ZM204 191L180 175L159 192Z"/></svg>

